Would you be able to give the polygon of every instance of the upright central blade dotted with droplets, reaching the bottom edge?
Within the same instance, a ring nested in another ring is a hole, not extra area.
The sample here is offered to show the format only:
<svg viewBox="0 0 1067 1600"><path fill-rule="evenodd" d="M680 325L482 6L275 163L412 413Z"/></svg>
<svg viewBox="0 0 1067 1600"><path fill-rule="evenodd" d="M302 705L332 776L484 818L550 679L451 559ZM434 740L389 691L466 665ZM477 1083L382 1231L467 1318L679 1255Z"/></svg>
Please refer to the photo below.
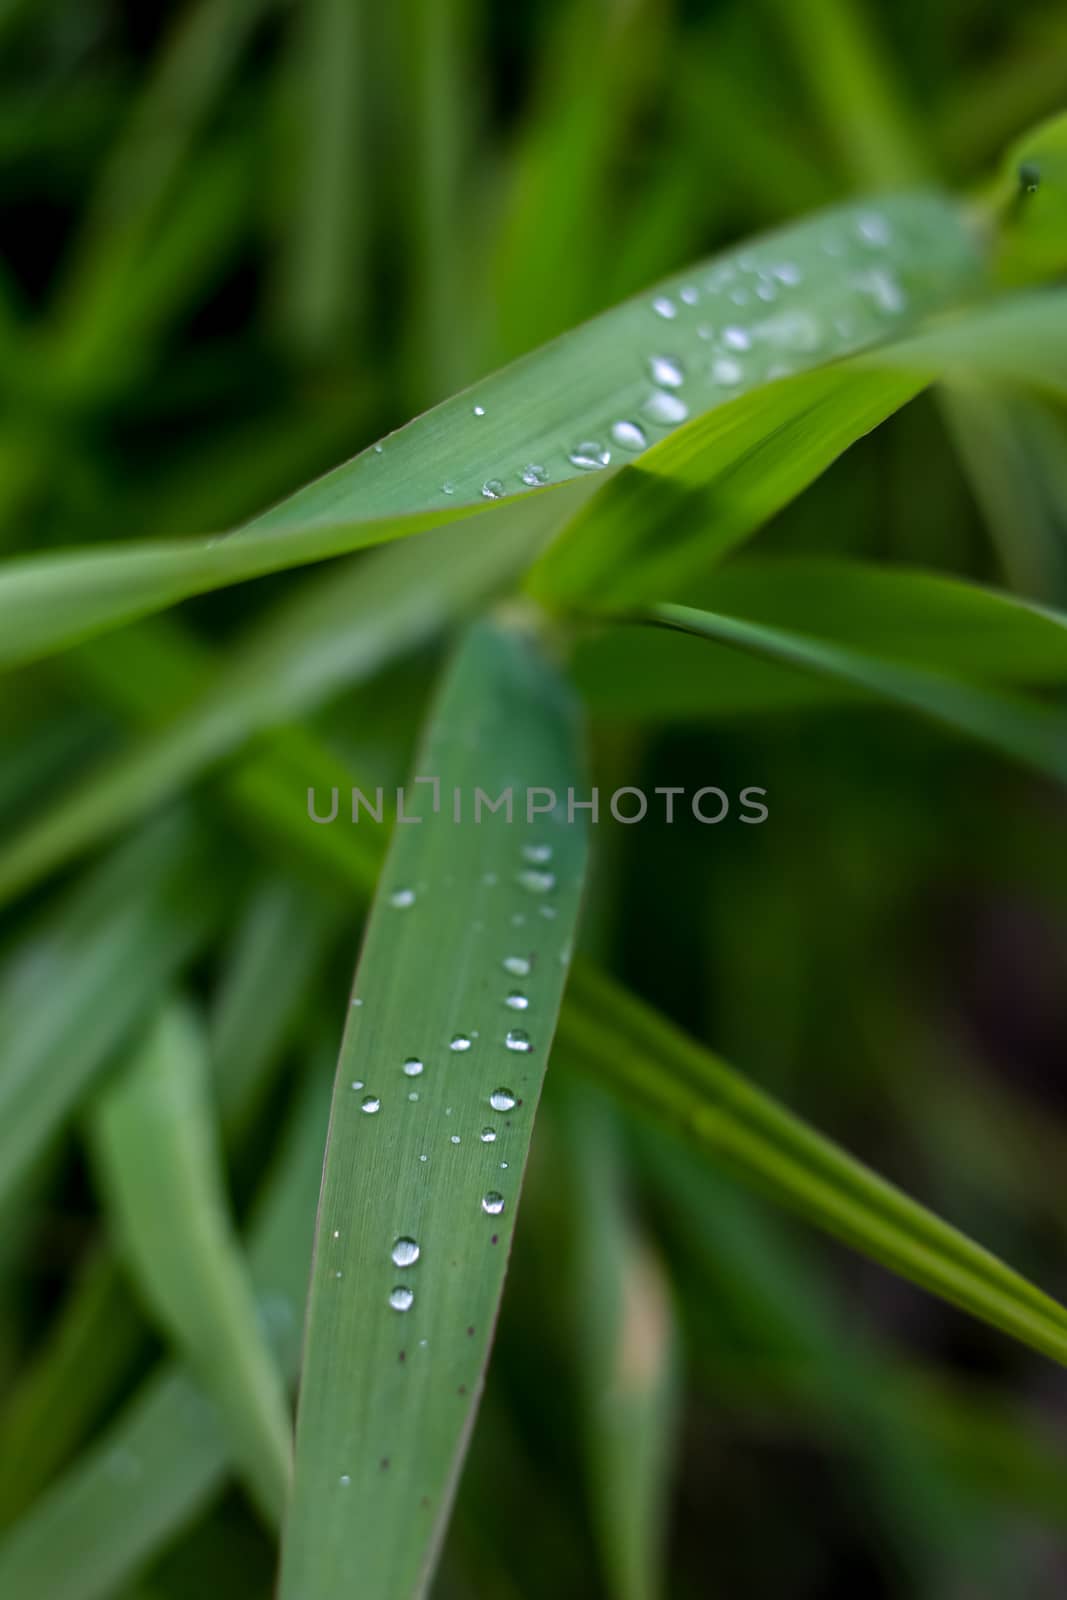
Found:
<svg viewBox="0 0 1067 1600"><path fill-rule="evenodd" d="M558 826L558 813L525 821L526 790L565 800L581 782L569 698L526 637L494 626L469 634L416 771L440 776L445 810L434 816L432 790L419 786L408 810L421 826L395 832L341 1050L285 1600L325 1600L352 1582L365 1600L402 1600L429 1581L482 1389L577 914L581 814L573 826ZM514 786L515 826L504 811L472 822L475 786L493 798ZM528 1010L509 1006L512 990ZM403 1238L416 1242L416 1261Z"/></svg>

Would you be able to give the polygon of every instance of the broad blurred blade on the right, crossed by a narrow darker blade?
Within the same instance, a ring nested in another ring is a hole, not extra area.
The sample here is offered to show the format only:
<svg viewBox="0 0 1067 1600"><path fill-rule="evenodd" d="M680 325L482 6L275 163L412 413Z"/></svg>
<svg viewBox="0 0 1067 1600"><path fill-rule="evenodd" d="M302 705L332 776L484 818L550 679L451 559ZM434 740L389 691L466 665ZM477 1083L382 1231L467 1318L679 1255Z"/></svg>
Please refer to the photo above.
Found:
<svg viewBox="0 0 1067 1600"><path fill-rule="evenodd" d="M693 598L971 683L1067 682L1059 614L936 573L832 557L745 558L715 571ZM633 624L582 640L573 667L590 706L608 717L737 715L870 698L843 677L800 674L771 656Z"/></svg>

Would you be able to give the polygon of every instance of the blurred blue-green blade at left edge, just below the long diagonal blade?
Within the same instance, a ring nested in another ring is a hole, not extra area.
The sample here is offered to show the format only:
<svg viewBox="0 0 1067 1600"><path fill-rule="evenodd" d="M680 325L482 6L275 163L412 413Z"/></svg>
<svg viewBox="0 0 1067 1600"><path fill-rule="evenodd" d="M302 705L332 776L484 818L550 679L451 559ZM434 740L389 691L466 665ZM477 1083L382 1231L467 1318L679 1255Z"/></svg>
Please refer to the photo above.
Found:
<svg viewBox="0 0 1067 1600"><path fill-rule="evenodd" d="M218 901L200 864L182 821L152 824L64 896L8 962L0 1205L211 928Z"/></svg>

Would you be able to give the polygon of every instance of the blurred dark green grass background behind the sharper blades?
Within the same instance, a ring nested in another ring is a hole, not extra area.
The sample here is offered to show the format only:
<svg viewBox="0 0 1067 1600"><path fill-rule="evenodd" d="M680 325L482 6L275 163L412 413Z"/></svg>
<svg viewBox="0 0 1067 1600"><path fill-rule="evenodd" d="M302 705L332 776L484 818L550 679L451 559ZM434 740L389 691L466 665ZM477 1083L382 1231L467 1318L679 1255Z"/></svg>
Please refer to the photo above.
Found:
<svg viewBox="0 0 1067 1600"><path fill-rule="evenodd" d="M1067 13L1041 3L0 0L0 547L227 528L688 259L854 190L966 189L1064 99ZM963 430L923 398L755 547L1064 602L1065 443L1062 414L1029 398L990 398ZM224 654L302 581L224 590L181 624ZM438 659L422 648L336 696L317 730L394 779ZM5 682L0 822L125 746L125 670L82 646ZM162 677L144 691L181 699ZM891 712L621 717L595 739L605 787L758 784L771 810L761 829L601 829L601 958L1064 1298L1062 795ZM218 774L189 805L219 891L189 987L218 1029L270 894L309 930L230 1162L243 1216L309 1061L339 1035L358 918L222 803ZM46 958L27 918L69 885L3 914L10 962ZM553 1067L443 1600L611 1592ZM685 1349L662 1594L1062 1594L1056 1370L648 1130L622 1122L621 1139ZM0 1234L5 1522L160 1355L122 1283L91 1320L104 1234L74 1130ZM272 1563L232 1490L115 1594L253 1600Z"/></svg>

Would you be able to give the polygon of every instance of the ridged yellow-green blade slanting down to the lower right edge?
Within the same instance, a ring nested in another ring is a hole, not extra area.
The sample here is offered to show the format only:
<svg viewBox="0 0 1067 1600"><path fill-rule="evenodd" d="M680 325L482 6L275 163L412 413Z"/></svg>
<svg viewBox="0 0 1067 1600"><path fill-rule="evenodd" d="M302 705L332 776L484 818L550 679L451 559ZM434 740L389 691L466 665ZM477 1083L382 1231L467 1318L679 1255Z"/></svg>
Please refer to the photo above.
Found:
<svg viewBox="0 0 1067 1600"><path fill-rule="evenodd" d="M1062 1306L590 968L574 970L560 1048L817 1227L1067 1365Z"/></svg>

